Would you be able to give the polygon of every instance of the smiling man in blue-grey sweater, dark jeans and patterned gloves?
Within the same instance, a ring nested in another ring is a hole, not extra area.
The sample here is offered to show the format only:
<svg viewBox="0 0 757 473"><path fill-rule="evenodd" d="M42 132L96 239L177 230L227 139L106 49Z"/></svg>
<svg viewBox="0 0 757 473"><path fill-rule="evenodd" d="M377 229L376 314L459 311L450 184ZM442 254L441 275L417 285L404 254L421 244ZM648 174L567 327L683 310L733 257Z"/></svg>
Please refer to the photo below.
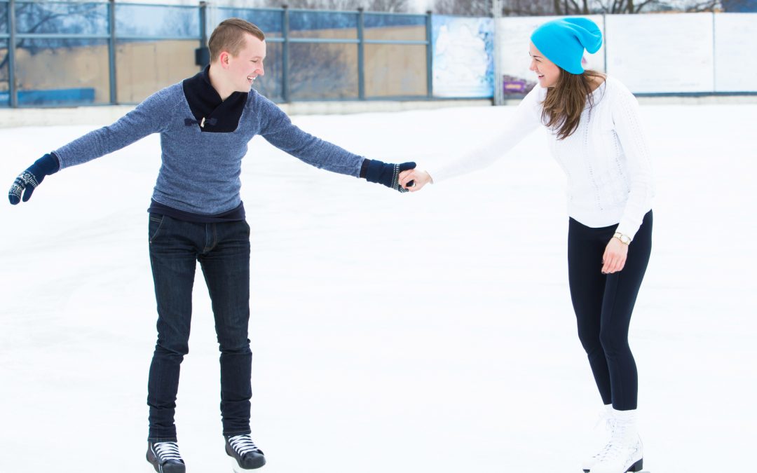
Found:
<svg viewBox="0 0 757 473"><path fill-rule="evenodd" d="M220 345L221 415L226 453L239 468L265 464L250 434L248 339L250 227L239 189L248 142L262 135L304 162L397 191L415 163L382 163L308 135L251 89L266 58L263 32L231 18L210 36L210 66L151 95L111 126L89 132L37 160L14 181L11 204L28 201L45 176L160 133L162 166L148 222L157 300L157 344L148 381L147 459L159 473L183 473L174 412L179 366L188 353L192 285L199 261ZM23 199L22 199L23 194Z"/></svg>

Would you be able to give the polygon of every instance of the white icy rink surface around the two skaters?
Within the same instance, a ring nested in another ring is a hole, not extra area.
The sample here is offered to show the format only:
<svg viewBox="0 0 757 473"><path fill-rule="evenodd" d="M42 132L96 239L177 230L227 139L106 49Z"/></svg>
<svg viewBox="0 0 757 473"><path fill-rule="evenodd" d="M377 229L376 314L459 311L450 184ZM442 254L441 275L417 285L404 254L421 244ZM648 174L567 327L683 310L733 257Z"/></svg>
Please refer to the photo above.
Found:
<svg viewBox="0 0 757 473"><path fill-rule="evenodd" d="M423 167L506 126L512 110L294 122ZM645 471L740 471L757 423L757 106L642 114L658 194L631 324ZM0 176L10 185L92 128L0 130ZM151 471L145 210L158 166L151 136L0 205L0 471ZM569 299L564 177L541 132L487 170L416 194L316 170L262 138L242 180L264 471L580 471L601 402ZM231 471L210 301L196 280L179 445L188 471Z"/></svg>

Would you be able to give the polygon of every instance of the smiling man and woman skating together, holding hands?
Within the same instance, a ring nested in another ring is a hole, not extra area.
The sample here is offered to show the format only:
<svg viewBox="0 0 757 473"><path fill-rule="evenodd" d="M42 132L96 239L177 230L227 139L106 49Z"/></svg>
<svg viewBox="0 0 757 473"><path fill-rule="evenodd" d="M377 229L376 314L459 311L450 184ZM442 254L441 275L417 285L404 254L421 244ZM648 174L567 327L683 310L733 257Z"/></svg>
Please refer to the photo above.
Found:
<svg viewBox="0 0 757 473"><path fill-rule="evenodd" d="M241 159L261 135L312 166L397 191L480 169L539 126L568 180L569 285L600 391L608 441L581 467L592 473L640 471L637 369L628 346L634 303L650 259L653 180L638 104L618 80L584 70L602 33L585 18L534 30L530 69L538 85L491 142L448 163L391 164L352 154L291 123L251 89L265 73L265 35L252 23L224 20L210 36L210 65L151 95L116 123L45 154L14 181L11 204L27 201L45 176L160 133L162 164L148 209L157 300L157 344L148 375L147 459L159 473L184 473L174 413L179 366L188 353L197 262L212 300L220 345L221 415L226 453L238 471L260 468L251 438L250 227L240 198ZM146 66L145 66L146 67Z"/></svg>

